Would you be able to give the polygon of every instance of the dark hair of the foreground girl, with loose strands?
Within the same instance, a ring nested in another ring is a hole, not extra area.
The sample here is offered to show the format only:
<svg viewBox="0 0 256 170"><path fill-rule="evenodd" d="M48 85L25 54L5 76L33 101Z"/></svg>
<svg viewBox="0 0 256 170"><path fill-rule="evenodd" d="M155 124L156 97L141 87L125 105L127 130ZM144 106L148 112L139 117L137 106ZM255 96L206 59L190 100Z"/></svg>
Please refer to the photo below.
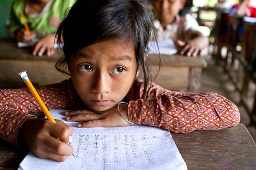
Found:
<svg viewBox="0 0 256 170"><path fill-rule="evenodd" d="M77 0L56 34L65 56L55 67L68 74L65 70L69 68L69 57L81 48L104 40L131 41L138 67L143 70L143 98L146 98L148 84L152 81L151 65L146 57L152 32L153 16L139 0Z"/></svg>

